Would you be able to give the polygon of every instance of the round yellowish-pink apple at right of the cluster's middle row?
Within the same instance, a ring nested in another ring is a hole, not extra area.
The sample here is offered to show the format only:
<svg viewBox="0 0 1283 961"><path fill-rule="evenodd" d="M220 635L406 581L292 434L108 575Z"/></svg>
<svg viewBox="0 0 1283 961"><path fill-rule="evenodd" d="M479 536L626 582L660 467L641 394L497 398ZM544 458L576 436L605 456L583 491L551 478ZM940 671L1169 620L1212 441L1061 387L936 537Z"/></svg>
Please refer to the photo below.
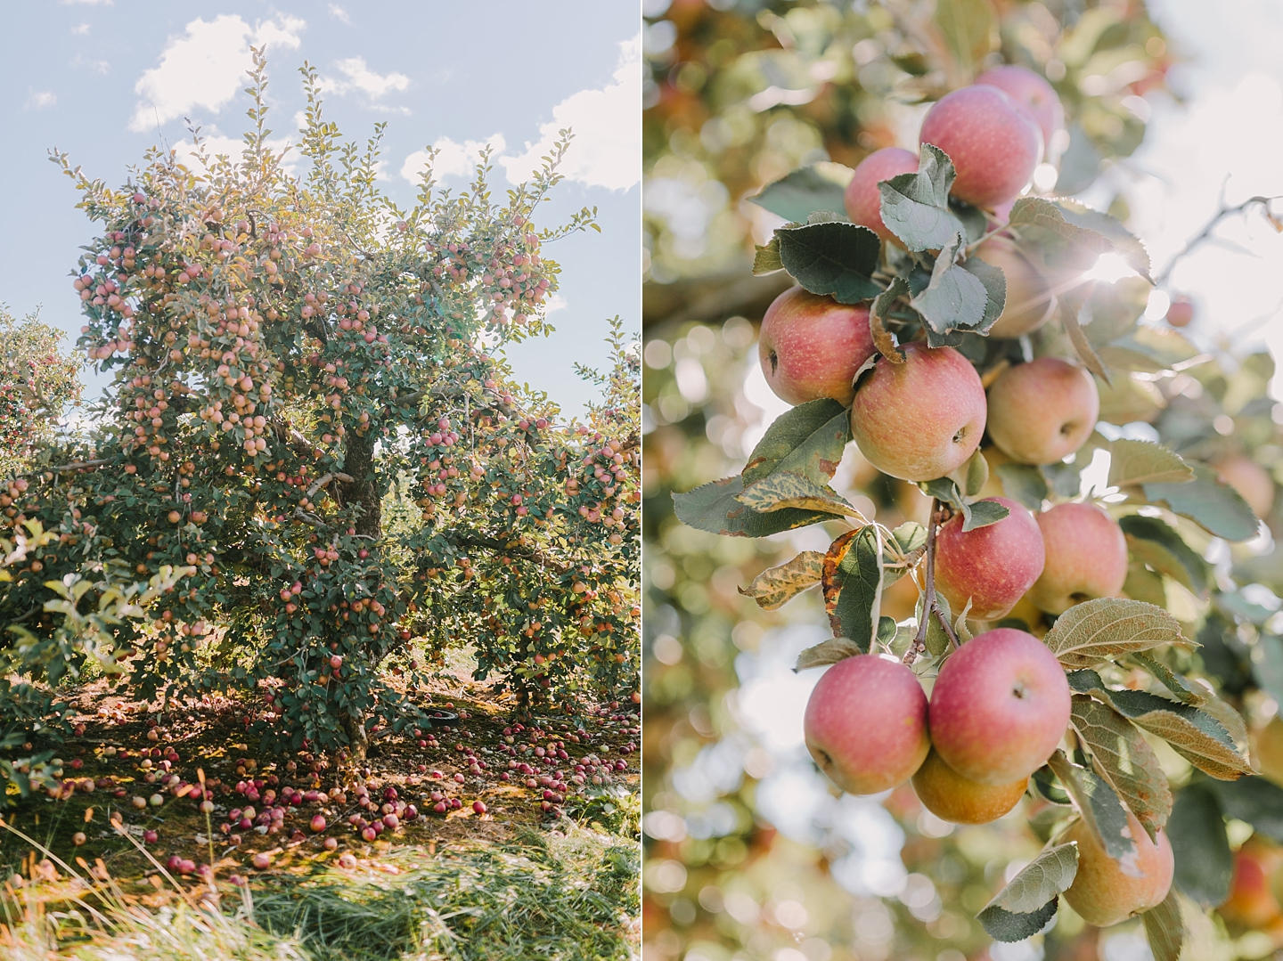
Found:
<svg viewBox="0 0 1283 961"><path fill-rule="evenodd" d="M989 436L1020 463L1069 457L1092 436L1100 412L1092 375L1058 357L1008 367L989 387Z"/></svg>

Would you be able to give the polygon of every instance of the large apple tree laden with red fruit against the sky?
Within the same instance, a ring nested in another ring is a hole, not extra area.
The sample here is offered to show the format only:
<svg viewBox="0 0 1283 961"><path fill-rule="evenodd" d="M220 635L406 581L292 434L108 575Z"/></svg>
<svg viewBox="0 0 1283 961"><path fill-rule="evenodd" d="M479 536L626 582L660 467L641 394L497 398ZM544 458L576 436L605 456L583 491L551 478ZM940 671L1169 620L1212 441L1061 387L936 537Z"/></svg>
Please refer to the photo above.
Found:
<svg viewBox="0 0 1283 961"><path fill-rule="evenodd" d="M416 638L475 645L527 706L635 690L633 345L615 322L582 421L502 359L547 330L547 245L591 226L534 223L570 133L503 203L486 154L468 189L427 172L403 209L378 133L343 141L303 74L296 176L267 146L257 54L239 159L198 135L199 164L153 150L113 189L55 154L100 225L71 285L112 386L6 481L5 536L54 539L10 565L0 618L47 642L55 585L182 568L106 630L119 676L146 698L251 692L273 751L361 756L421 719Z"/></svg>

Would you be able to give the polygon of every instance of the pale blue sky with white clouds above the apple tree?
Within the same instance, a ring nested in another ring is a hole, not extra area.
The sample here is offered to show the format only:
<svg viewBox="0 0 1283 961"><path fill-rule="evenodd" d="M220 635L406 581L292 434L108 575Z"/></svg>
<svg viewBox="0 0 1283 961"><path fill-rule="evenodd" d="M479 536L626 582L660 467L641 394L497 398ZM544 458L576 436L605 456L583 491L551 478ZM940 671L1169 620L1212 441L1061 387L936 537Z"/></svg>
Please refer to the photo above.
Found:
<svg viewBox="0 0 1283 961"><path fill-rule="evenodd" d="M387 122L382 186L400 203L413 198L417 151L429 144L443 150L439 174L455 172L446 186L463 186L476 149L493 144L503 190L559 127L572 127L568 177L540 223L597 207L602 232L549 249L563 266L549 317L557 332L514 346L513 367L577 412L591 391L572 364L606 364L604 318L620 314L640 330L640 21L631 0L49 0L8 4L3 22L0 302L18 314L40 305L47 322L81 326L68 272L90 223L47 150L119 183L153 144L181 149L186 117L235 149L248 122L249 46L266 42L275 136L298 127L296 68L308 60L344 133L363 142Z"/></svg>

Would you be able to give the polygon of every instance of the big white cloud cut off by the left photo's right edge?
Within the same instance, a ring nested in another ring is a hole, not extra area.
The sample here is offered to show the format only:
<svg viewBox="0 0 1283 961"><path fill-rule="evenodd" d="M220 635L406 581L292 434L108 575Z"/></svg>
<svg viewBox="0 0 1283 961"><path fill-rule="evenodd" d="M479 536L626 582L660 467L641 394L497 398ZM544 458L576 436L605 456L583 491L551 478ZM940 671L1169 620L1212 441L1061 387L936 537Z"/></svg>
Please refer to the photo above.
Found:
<svg viewBox="0 0 1283 961"><path fill-rule="evenodd" d="M502 157L508 181L520 183L539 169L540 157L557 132L575 132L561 172L588 186L627 190L642 180L642 35L620 44L615 82L581 90L553 108L552 123L539 127L539 141L517 157Z"/></svg>

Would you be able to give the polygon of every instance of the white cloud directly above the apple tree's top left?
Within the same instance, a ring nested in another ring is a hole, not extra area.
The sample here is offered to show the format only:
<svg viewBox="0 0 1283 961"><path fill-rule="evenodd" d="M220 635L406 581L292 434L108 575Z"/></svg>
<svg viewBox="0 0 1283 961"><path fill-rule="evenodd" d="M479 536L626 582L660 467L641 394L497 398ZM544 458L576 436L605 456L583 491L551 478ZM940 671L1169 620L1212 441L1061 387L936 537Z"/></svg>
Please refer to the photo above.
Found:
<svg viewBox="0 0 1283 961"><path fill-rule="evenodd" d="M144 131L204 106L218 113L245 85L253 67L250 46L299 46L305 23L281 14L250 27L240 17L221 14L207 23L195 19L186 36L171 38L159 65L139 78L133 92L140 100L130 130Z"/></svg>

